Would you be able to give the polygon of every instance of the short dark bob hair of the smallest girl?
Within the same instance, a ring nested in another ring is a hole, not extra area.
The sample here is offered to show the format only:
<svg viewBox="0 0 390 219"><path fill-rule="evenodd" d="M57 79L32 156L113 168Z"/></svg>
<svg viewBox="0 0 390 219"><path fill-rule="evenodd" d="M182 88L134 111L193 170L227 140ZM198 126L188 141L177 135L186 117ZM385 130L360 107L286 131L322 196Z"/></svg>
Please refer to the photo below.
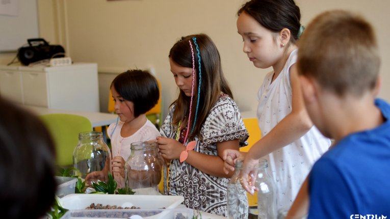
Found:
<svg viewBox="0 0 390 219"><path fill-rule="evenodd" d="M134 117L148 112L160 98L157 79L148 71L127 70L114 78L112 87L123 99L134 103Z"/></svg>

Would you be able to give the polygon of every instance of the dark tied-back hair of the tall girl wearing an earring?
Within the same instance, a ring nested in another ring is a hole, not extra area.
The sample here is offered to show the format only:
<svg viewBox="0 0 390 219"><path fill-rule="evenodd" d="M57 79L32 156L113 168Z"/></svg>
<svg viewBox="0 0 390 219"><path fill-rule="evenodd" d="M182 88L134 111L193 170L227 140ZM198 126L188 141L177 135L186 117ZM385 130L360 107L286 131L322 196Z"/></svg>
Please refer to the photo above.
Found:
<svg viewBox="0 0 390 219"><path fill-rule="evenodd" d="M238 16L243 12L274 33L289 29L291 43L295 44L299 38L301 13L294 0L251 0L240 8Z"/></svg>

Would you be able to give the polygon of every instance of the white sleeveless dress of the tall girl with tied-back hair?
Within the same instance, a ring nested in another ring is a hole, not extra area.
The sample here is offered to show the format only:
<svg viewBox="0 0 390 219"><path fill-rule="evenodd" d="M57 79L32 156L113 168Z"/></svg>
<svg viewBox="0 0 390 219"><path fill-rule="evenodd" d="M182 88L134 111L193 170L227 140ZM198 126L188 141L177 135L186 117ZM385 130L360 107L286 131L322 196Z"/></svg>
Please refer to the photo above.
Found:
<svg viewBox="0 0 390 219"><path fill-rule="evenodd" d="M293 95L290 68L296 63L297 51L295 49L291 52L274 81L273 72L267 74L258 91L257 119L262 136L291 113ZM313 126L300 139L264 157L268 160L268 173L273 176L276 183L278 209L290 208L313 163L328 150L329 146L330 140Z"/></svg>

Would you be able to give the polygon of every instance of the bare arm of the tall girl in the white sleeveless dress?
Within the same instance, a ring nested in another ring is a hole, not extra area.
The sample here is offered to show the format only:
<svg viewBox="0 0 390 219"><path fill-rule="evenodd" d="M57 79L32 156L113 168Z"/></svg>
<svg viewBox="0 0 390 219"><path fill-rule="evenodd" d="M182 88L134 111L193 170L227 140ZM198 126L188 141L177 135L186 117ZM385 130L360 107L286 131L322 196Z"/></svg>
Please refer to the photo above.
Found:
<svg viewBox="0 0 390 219"><path fill-rule="evenodd" d="M245 156L243 169L253 167L261 158L279 148L299 139L313 126L304 106L301 85L296 66L290 68L292 88L292 111L284 117L268 134L256 142ZM250 193L250 182L247 181L249 172L242 172L243 187Z"/></svg>

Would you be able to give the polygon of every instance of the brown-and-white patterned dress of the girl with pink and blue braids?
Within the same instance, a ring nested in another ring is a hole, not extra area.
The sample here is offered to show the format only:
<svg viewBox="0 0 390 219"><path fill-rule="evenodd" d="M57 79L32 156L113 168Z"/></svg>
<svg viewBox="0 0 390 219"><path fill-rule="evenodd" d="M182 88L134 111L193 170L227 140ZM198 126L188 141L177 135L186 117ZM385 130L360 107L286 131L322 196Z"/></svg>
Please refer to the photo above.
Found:
<svg viewBox="0 0 390 219"><path fill-rule="evenodd" d="M161 126L160 133L176 139L177 124L172 124L175 104ZM221 95L200 130L201 140L195 137L195 151L218 156L217 142L239 139L240 147L247 145L248 132L234 100ZM188 140L190 142L192 140ZM205 174L186 161L172 159L169 167L169 195L184 196L188 208L226 216L228 178Z"/></svg>

